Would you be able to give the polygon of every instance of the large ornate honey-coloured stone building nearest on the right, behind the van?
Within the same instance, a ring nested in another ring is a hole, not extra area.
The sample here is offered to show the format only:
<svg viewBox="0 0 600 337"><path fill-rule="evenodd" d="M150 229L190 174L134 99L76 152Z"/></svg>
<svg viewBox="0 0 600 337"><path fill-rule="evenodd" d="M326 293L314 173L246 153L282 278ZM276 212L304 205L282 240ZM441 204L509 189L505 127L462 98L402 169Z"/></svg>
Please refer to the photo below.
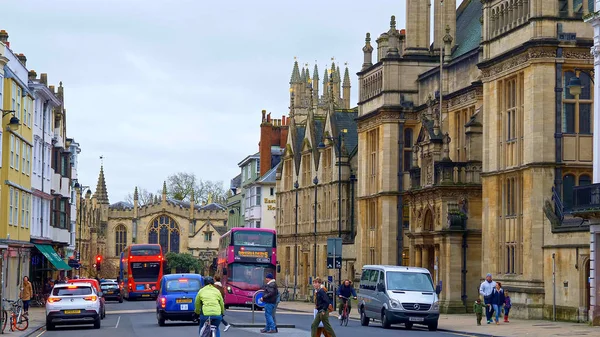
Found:
<svg viewBox="0 0 600 337"><path fill-rule="evenodd" d="M363 48L357 266L428 268L445 312L491 272L511 315L587 320L589 226L571 206L591 182L593 96L567 85L592 68L593 4L435 1L433 43L430 5L407 0L407 29L392 17Z"/></svg>

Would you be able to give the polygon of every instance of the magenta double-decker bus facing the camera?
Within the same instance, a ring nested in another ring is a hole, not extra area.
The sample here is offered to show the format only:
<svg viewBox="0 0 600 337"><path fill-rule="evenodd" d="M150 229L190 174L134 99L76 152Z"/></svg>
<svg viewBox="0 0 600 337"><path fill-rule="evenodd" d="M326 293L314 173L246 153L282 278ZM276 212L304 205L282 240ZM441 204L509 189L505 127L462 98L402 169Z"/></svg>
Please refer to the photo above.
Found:
<svg viewBox="0 0 600 337"><path fill-rule="evenodd" d="M265 276L275 276L277 269L275 230L233 228L221 236L217 275L225 288L226 307L251 306L252 296L264 285Z"/></svg>

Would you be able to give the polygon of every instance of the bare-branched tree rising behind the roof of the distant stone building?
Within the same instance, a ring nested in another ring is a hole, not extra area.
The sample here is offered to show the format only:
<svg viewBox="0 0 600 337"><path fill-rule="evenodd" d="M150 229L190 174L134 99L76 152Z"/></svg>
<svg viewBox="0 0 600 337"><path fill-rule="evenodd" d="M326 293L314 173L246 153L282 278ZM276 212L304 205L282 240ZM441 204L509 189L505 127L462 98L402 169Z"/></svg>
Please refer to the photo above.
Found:
<svg viewBox="0 0 600 337"><path fill-rule="evenodd" d="M190 201L192 191L197 203L208 201L225 203L227 200L227 191L222 181L198 179L195 174L188 172L179 172L167 178L167 196L169 198Z"/></svg>

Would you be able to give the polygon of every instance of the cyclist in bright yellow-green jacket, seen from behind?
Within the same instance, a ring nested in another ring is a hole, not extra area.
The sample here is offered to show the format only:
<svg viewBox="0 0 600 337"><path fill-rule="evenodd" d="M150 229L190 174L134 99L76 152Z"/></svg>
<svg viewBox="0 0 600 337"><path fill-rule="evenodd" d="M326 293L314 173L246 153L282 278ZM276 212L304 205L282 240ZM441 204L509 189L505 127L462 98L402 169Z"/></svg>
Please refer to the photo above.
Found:
<svg viewBox="0 0 600 337"><path fill-rule="evenodd" d="M212 277L204 278L204 287L196 295L194 312L196 315L200 315L200 330L210 318L210 324L217 327L217 337L221 337L219 324L225 313L225 305L223 296L219 289L215 288L214 283L215 280Z"/></svg>

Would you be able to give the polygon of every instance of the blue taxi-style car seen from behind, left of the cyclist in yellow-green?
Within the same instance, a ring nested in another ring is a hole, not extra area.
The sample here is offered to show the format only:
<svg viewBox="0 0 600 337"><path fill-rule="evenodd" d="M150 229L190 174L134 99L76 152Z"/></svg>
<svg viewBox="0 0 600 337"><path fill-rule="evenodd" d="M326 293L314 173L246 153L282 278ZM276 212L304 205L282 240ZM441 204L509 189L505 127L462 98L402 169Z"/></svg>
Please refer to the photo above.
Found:
<svg viewBox="0 0 600 337"><path fill-rule="evenodd" d="M162 277L156 290L156 319L159 326L165 321L194 321L194 302L204 278L198 274L169 274Z"/></svg>

